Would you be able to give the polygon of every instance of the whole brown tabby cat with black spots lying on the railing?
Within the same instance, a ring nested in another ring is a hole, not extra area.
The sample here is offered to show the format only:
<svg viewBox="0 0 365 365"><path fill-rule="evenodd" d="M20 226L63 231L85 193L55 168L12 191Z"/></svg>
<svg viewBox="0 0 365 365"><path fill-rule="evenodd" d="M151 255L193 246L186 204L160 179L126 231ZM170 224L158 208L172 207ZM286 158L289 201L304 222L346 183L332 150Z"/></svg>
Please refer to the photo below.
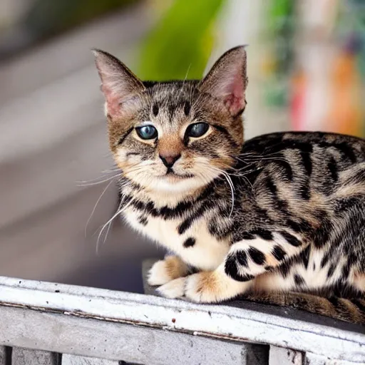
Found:
<svg viewBox="0 0 365 365"><path fill-rule="evenodd" d="M245 141L245 46L201 81L140 81L93 52L123 173L120 215L173 253L149 284L169 298L243 295L364 324L365 140L287 132Z"/></svg>

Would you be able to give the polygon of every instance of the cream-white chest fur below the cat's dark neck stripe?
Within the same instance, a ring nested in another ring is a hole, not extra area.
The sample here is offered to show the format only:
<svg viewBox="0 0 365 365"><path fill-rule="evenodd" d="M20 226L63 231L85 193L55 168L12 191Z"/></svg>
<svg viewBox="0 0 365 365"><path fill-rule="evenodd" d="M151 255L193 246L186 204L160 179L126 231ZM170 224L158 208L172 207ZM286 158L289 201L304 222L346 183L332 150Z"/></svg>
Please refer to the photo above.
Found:
<svg viewBox="0 0 365 365"><path fill-rule="evenodd" d="M125 210L124 217L135 230L163 245L187 264L198 269L216 269L229 250L228 242L217 241L210 235L204 218L194 222L183 235L180 235L178 233L180 219L163 220L160 217L149 216L147 224L143 225L139 222L140 212L135 212L133 208ZM186 247L186 242L192 240L194 244Z"/></svg>

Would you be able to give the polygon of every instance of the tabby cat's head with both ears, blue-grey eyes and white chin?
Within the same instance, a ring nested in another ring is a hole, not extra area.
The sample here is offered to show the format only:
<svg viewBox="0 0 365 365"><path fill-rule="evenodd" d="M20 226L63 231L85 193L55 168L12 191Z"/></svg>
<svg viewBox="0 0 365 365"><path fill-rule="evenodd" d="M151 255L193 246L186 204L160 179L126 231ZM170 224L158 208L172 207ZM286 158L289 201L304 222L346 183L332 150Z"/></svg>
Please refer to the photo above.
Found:
<svg viewBox="0 0 365 365"><path fill-rule="evenodd" d="M110 150L125 178L148 190L207 185L235 164L243 143L246 52L230 49L202 81L140 81L95 50Z"/></svg>

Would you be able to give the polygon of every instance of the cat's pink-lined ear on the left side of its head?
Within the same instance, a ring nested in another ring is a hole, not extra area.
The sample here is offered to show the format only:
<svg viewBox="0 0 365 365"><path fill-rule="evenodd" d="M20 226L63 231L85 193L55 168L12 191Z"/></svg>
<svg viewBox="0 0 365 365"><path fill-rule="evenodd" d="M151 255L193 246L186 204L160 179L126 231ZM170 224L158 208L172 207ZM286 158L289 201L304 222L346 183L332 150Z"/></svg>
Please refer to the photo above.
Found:
<svg viewBox="0 0 365 365"><path fill-rule="evenodd" d="M93 49L93 53L101 78L101 91L106 98L106 113L111 118L118 118L123 101L145 91L145 86L118 58L99 49Z"/></svg>

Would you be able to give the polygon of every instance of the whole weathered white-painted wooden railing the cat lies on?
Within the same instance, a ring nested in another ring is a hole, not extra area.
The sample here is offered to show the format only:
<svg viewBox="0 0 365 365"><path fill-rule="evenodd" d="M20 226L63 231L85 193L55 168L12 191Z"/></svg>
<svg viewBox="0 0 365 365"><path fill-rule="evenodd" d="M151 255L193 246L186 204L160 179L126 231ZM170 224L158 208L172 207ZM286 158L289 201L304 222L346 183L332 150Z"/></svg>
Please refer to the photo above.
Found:
<svg viewBox="0 0 365 365"><path fill-rule="evenodd" d="M0 365L365 364L364 327L295 317L0 277Z"/></svg>

